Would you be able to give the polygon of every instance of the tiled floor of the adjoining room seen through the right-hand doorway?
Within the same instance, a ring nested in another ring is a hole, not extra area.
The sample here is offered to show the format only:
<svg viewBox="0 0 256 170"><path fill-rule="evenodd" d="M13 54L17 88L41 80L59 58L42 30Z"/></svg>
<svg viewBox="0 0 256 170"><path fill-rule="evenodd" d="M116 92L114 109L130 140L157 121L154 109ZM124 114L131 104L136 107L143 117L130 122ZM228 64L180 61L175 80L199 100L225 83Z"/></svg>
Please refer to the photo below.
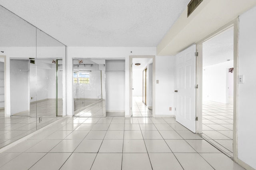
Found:
<svg viewBox="0 0 256 170"><path fill-rule="evenodd" d="M203 136L233 156L233 98L229 104L203 102Z"/></svg>

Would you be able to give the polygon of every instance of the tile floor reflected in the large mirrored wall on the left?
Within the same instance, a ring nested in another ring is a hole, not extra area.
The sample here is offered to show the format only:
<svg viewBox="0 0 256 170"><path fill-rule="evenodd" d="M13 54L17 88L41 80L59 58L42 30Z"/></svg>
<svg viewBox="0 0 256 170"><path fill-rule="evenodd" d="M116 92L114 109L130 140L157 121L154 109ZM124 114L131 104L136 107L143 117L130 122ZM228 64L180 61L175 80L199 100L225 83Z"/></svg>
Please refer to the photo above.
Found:
<svg viewBox="0 0 256 170"><path fill-rule="evenodd" d="M4 117L4 110L2 110L0 112L0 148L61 119L62 117L56 117L55 106L55 100L32 103L30 116L26 113L23 116ZM62 100L58 101L58 111L62 115ZM42 122L39 123L36 116L42 117Z"/></svg>

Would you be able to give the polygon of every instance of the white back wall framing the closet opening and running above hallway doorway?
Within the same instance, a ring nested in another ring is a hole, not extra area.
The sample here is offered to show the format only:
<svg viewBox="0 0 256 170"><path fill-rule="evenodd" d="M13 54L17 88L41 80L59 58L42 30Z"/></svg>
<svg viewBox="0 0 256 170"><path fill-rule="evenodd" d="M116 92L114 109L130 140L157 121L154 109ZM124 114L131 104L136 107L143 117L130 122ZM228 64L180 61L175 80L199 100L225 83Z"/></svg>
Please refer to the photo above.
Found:
<svg viewBox="0 0 256 170"><path fill-rule="evenodd" d="M132 53L131 53L132 51ZM125 115L129 116L129 56L156 55L156 47L67 47L67 115L72 115L72 58L125 59ZM113 103L112 105L115 105Z"/></svg>

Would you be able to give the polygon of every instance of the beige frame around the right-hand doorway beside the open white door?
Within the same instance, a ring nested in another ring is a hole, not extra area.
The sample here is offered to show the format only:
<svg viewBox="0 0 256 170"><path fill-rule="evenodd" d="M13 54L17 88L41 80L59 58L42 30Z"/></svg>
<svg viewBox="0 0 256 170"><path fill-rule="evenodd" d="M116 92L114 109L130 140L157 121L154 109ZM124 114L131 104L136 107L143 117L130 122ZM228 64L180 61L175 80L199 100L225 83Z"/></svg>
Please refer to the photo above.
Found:
<svg viewBox="0 0 256 170"><path fill-rule="evenodd" d="M222 26L212 34L209 34L202 40L196 42L198 57L196 59L196 82L198 89L196 91L196 133L202 133L202 43L210 40L214 36L234 28L234 102L233 102L233 159L238 162L238 136L237 136L237 111L238 111L238 31L239 31L239 18L236 18L228 24Z"/></svg>

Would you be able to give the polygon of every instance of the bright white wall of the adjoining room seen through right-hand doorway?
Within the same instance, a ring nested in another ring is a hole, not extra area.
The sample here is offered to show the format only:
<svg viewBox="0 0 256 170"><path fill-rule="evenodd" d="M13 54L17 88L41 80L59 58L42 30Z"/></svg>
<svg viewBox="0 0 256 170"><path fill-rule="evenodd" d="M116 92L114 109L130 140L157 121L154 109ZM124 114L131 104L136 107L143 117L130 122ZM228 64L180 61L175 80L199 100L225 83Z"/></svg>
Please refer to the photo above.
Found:
<svg viewBox="0 0 256 170"><path fill-rule="evenodd" d="M203 100L228 104L228 68L233 61L203 67Z"/></svg>

